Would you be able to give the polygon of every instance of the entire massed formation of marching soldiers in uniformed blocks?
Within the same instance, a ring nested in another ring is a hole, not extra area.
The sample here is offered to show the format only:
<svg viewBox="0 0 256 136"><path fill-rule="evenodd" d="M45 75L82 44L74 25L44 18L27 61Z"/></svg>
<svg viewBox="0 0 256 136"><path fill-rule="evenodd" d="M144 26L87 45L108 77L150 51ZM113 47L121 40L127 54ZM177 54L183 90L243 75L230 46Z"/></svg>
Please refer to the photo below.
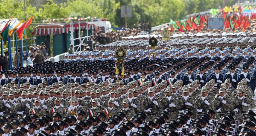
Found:
<svg viewBox="0 0 256 136"><path fill-rule="evenodd" d="M256 33L150 37L0 71L0 135L256 136Z"/></svg>

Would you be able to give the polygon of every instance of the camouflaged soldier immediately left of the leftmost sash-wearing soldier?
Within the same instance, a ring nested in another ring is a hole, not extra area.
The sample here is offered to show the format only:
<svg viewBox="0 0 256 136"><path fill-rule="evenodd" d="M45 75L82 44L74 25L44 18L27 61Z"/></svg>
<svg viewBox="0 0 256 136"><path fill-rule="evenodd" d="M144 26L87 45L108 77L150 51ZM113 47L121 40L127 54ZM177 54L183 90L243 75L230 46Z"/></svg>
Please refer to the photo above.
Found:
<svg viewBox="0 0 256 136"><path fill-rule="evenodd" d="M23 91L22 100L17 101L17 105L15 105L15 112L18 116L22 116L23 114L29 114L30 108L33 106L33 103L29 102L27 99L27 92Z"/></svg>

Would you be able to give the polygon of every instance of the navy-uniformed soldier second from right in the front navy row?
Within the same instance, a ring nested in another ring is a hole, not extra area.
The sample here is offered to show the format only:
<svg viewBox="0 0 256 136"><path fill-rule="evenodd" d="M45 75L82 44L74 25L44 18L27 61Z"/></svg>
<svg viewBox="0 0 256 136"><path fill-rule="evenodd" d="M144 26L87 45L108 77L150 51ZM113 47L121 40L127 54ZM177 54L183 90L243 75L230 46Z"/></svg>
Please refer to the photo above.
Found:
<svg viewBox="0 0 256 136"><path fill-rule="evenodd" d="M239 75L235 72L236 67L233 65L229 66L230 72L227 72L225 79L230 79L230 83L236 89L237 84L240 82Z"/></svg>

